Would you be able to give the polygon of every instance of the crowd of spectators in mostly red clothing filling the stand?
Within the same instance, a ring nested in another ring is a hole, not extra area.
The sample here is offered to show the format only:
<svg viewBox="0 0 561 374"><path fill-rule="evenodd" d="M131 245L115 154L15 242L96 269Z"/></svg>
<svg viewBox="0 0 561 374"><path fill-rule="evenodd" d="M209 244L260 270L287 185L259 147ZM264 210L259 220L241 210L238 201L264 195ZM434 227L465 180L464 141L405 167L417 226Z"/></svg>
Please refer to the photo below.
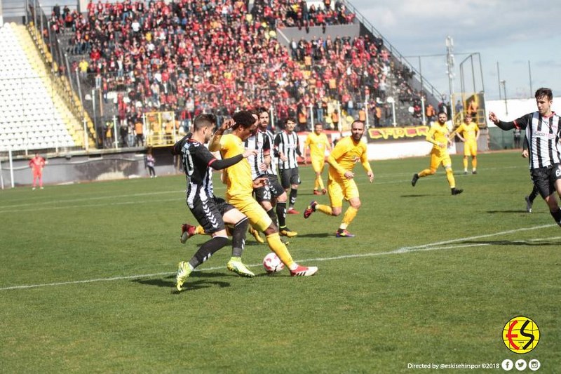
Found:
<svg viewBox="0 0 561 374"><path fill-rule="evenodd" d="M199 112L273 107L278 123L290 116L304 126L310 107L316 121L332 123L332 100L350 116L370 110L379 125L388 112L384 99L395 67L381 39L327 34L292 41L288 49L276 39L276 27L354 22L339 1L308 7L256 0L248 12L242 0L98 0L85 14L53 8L51 17L51 32L70 34L72 70L114 102L131 128L154 111L188 121ZM400 91L409 92L407 72L393 74L403 78Z"/></svg>

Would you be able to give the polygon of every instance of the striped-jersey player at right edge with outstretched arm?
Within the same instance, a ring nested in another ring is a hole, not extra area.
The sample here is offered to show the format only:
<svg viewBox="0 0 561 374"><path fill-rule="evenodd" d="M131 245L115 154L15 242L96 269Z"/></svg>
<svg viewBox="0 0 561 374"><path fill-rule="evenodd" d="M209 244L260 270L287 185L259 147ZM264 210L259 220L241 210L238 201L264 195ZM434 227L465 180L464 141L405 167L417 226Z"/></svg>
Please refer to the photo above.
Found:
<svg viewBox="0 0 561 374"><path fill-rule="evenodd" d="M526 131L530 175L548 204L551 216L561 227L561 209L554 195L557 191L561 196L561 117L551 110L553 93L550 88L539 88L535 98L537 112L510 122L500 121L496 114L489 112L489 120L503 130L520 128Z"/></svg>

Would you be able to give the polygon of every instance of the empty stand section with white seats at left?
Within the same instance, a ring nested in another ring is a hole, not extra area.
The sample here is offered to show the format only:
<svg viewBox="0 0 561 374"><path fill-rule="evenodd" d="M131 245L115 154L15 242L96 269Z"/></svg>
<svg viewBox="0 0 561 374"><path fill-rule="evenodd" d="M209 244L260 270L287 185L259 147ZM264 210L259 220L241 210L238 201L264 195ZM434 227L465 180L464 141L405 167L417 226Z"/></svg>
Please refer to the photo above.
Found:
<svg viewBox="0 0 561 374"><path fill-rule="evenodd" d="M83 148L81 123L66 107L25 26L0 28L0 148Z"/></svg>

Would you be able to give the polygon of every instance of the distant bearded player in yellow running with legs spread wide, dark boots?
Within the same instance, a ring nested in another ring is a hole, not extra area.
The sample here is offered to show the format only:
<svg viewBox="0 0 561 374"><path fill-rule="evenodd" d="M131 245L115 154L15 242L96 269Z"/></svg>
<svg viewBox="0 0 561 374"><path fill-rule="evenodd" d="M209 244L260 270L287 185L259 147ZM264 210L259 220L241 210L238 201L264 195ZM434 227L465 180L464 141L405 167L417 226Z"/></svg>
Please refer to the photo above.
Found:
<svg viewBox="0 0 561 374"><path fill-rule="evenodd" d="M457 195L464 192L464 190L456 188L456 180L454 179L454 172L452 171L452 160L450 159L447 148L450 142L448 138L448 126L446 124L447 120L448 114L446 114L446 112L438 113L438 121L433 122L431 129L428 131L428 134L426 134L426 141L433 143L433 149L431 150L431 166L428 169L424 169L424 171L414 174L411 185L415 187L419 178L436 173L436 169L442 164L446 170L446 178L450 185L452 195Z"/></svg>

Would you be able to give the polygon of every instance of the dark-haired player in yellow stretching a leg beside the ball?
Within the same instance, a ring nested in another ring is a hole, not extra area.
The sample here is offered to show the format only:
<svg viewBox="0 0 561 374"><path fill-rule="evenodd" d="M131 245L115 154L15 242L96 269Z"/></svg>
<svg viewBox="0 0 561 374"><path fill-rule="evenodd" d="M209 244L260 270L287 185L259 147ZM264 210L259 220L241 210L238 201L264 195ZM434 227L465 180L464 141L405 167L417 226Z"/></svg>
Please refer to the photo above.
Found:
<svg viewBox="0 0 561 374"><path fill-rule="evenodd" d="M245 151L243 142L250 135L257 132L258 119L251 112L236 112L231 120L224 121L222 126L216 131L214 138L210 142L208 149L210 152L220 151L222 159L229 159L236 154L243 154ZM229 134L223 135L224 131L231 128ZM259 203L253 199L252 192L255 187L260 187L266 183L267 178L261 177L252 180L251 166L247 159L236 163L226 169L226 199L238 208L238 211L245 214L250 224L264 232L266 241L271 251L278 255L280 261L288 267L291 276L311 276L318 271L317 267L305 267L298 265L292 260L285 243L280 241L278 227L274 224L271 217L266 213Z"/></svg>

